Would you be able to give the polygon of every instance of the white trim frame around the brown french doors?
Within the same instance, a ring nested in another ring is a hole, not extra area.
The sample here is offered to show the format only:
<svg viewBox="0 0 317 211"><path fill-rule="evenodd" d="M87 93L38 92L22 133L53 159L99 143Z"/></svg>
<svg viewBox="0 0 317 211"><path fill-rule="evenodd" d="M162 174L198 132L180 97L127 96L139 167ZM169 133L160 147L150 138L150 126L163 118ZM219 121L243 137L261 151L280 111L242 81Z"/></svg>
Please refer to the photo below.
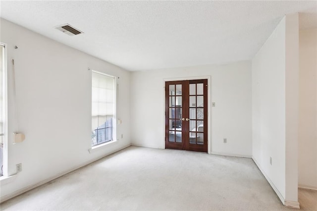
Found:
<svg viewBox="0 0 317 211"><path fill-rule="evenodd" d="M163 94L162 94L162 99L163 99L163 113L162 113L162 125L165 125L165 82L166 81L185 81L185 80L199 80L199 79L207 79L207 84L208 84L208 118L207 118L207 122L208 122L208 154L211 154L211 76L207 75L207 76L197 76L197 77L184 77L184 78L165 78L163 79ZM163 127L163 147L162 149L165 149L165 126Z"/></svg>

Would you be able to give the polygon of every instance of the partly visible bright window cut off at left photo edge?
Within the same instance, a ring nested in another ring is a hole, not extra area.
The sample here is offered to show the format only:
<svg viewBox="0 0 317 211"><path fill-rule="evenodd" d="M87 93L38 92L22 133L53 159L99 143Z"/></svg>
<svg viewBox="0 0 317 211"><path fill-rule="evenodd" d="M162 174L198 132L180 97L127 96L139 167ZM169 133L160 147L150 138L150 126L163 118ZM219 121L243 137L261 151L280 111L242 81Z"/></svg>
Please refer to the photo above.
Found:
<svg viewBox="0 0 317 211"><path fill-rule="evenodd" d="M0 176L3 170L3 144L4 144L4 45L0 44Z"/></svg>

